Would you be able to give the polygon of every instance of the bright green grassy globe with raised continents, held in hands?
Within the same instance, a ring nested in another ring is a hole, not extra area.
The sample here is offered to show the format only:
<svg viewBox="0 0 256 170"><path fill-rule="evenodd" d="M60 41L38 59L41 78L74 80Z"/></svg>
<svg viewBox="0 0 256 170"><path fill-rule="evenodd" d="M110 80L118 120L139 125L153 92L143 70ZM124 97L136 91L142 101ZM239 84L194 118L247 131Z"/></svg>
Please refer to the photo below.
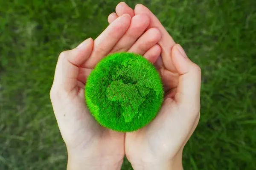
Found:
<svg viewBox="0 0 256 170"><path fill-rule="evenodd" d="M90 113L104 127L120 132L142 128L163 102L160 75L144 57L115 53L102 59L85 85Z"/></svg>

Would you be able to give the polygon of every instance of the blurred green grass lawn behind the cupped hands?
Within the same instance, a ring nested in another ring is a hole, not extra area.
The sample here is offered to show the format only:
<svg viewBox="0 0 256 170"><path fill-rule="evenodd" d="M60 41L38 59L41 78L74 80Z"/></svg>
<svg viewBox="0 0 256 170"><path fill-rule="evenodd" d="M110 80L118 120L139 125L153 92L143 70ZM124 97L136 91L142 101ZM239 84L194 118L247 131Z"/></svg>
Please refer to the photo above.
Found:
<svg viewBox="0 0 256 170"><path fill-rule="evenodd" d="M118 0L0 1L0 170L61 170L49 90L58 54L108 25ZM256 1L138 0L202 68L186 170L256 169ZM123 170L131 170L125 160Z"/></svg>

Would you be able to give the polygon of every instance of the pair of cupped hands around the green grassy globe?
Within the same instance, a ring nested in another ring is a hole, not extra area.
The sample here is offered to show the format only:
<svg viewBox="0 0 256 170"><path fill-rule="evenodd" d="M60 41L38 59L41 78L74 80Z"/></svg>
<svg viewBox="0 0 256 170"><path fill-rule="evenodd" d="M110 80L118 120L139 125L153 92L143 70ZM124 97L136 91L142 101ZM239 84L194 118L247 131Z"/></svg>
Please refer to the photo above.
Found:
<svg viewBox="0 0 256 170"><path fill-rule="evenodd" d="M142 4L133 10L119 3L108 22L95 40L88 38L58 58L50 98L67 147L67 169L117 170L125 155L135 170L183 169L183 148L200 117L201 69ZM165 91L157 117L130 133L99 125L84 100L84 85L95 65L121 51L152 62Z"/></svg>

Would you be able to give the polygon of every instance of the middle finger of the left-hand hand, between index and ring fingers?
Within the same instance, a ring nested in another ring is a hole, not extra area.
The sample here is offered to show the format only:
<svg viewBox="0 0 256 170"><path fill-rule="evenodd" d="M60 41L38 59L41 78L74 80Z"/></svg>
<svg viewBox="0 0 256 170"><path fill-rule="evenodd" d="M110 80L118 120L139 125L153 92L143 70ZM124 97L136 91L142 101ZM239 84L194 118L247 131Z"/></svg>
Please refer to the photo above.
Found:
<svg viewBox="0 0 256 170"><path fill-rule="evenodd" d="M125 35L117 42L110 53L127 51L149 26L149 17L146 14L136 15Z"/></svg>

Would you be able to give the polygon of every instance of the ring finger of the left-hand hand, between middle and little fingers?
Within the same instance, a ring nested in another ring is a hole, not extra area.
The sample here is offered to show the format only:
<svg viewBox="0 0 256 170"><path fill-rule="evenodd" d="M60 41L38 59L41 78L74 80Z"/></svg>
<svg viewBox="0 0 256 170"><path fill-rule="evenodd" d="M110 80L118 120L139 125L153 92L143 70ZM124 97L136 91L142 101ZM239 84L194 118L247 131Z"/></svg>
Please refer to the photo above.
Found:
<svg viewBox="0 0 256 170"><path fill-rule="evenodd" d="M161 39L161 33L157 28L151 28L146 31L135 43L131 46L128 52L144 55L151 47L157 44Z"/></svg>

